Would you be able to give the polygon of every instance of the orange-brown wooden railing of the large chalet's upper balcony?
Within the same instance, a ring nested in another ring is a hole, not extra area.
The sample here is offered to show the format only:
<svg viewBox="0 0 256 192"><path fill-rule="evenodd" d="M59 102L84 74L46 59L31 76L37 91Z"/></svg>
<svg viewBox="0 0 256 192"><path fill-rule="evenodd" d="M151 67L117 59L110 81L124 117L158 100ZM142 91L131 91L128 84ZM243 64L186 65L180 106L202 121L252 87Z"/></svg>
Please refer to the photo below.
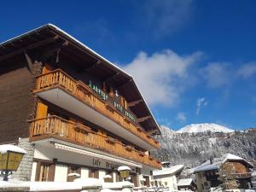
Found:
<svg viewBox="0 0 256 192"><path fill-rule="evenodd" d="M141 137L154 148L160 148L160 143L158 141L154 140L154 138L150 137L147 132L143 131L136 122L133 122L123 113L120 113L119 110L114 108L113 103L108 102L108 100L105 100L96 94L96 92L91 90L87 84L71 78L67 73L61 71L61 69L39 75L37 77L36 90L34 90L34 92L47 90L54 88L55 86L60 86L61 88L69 91L80 101L89 105L91 108L96 109L96 111L102 113L109 119L112 119L126 130L131 131L131 133L137 137Z"/></svg>

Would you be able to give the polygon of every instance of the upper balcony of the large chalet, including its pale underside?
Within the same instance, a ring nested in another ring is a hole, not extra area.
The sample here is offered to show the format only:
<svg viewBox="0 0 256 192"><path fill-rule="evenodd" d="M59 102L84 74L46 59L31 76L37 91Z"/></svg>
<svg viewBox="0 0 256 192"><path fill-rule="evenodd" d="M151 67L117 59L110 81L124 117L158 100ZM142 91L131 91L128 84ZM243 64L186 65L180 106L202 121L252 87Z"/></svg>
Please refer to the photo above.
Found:
<svg viewBox="0 0 256 192"><path fill-rule="evenodd" d="M125 137L146 150L160 148L160 143L143 131L132 115L121 113L111 101L111 96L102 90L95 91L87 84L76 81L57 69L37 77L33 91L45 100L104 127L119 137Z"/></svg>

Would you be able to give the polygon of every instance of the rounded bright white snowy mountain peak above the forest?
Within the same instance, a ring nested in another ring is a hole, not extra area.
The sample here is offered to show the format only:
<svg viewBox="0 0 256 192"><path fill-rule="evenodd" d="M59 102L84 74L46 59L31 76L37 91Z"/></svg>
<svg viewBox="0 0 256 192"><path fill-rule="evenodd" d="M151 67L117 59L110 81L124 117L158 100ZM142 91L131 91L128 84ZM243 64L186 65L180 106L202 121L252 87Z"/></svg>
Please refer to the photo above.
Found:
<svg viewBox="0 0 256 192"><path fill-rule="evenodd" d="M198 133L198 132L207 132L207 131L227 133L227 132L233 132L234 130L230 130L229 128L218 125L218 124L206 123L206 124L191 124L191 125L184 126L179 131L177 131L177 133L184 133L184 132Z"/></svg>

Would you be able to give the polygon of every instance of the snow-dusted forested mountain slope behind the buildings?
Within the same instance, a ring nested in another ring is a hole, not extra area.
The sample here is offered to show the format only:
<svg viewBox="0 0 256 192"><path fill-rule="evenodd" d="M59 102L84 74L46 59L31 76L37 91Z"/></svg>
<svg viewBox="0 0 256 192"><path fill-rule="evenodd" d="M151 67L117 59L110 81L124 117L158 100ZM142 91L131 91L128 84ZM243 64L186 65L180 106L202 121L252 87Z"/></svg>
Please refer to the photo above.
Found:
<svg viewBox="0 0 256 192"><path fill-rule="evenodd" d="M162 135L155 138L160 141L161 147L152 154L160 160L170 160L172 165L183 164L189 167L198 166L210 157L228 153L247 160L256 159L256 129L231 131L226 127L216 129L218 126L201 128L188 125L186 127L189 128L183 131L160 126Z"/></svg>

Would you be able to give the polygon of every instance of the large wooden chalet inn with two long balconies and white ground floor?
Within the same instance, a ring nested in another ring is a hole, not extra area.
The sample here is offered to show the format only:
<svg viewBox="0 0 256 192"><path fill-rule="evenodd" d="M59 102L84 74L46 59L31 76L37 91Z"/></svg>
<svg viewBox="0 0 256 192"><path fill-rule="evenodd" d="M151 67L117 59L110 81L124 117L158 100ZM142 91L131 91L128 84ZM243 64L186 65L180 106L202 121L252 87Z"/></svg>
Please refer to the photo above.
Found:
<svg viewBox="0 0 256 192"><path fill-rule="evenodd" d="M160 169L152 113L132 77L51 24L0 44L0 141L27 154L14 177L71 181Z"/></svg>

